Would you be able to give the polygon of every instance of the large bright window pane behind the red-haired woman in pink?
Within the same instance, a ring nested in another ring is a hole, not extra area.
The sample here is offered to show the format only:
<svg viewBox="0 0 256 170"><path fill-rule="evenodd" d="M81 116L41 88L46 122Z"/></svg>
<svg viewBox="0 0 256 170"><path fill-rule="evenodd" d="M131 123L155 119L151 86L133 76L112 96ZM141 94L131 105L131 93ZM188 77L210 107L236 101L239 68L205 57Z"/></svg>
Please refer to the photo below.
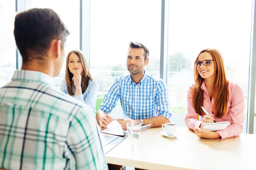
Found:
<svg viewBox="0 0 256 170"><path fill-rule="evenodd" d="M186 112L187 90L194 82L193 66L199 52L216 48L224 58L227 78L242 87L246 120L251 9L251 1L170 0L168 87L172 112ZM177 123L184 125L181 120Z"/></svg>

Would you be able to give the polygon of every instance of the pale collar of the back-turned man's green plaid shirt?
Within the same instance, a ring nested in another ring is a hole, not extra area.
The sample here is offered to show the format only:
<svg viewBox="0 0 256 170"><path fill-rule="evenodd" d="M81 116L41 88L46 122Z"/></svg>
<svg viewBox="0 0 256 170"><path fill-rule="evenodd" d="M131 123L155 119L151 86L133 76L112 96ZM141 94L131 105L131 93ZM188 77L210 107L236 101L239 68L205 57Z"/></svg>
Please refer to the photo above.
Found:
<svg viewBox="0 0 256 170"><path fill-rule="evenodd" d="M52 87L55 85L53 78L49 75L31 70L15 70L11 80L41 82Z"/></svg>

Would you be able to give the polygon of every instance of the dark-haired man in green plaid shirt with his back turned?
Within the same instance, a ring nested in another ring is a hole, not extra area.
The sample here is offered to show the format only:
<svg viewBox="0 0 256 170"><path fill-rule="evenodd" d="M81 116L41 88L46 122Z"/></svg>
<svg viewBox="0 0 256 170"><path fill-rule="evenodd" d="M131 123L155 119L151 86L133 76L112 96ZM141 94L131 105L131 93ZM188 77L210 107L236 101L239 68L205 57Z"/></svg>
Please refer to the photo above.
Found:
<svg viewBox="0 0 256 170"><path fill-rule="evenodd" d="M53 89L69 31L52 9L19 13L21 70L0 88L0 167L108 169L91 109Z"/></svg>

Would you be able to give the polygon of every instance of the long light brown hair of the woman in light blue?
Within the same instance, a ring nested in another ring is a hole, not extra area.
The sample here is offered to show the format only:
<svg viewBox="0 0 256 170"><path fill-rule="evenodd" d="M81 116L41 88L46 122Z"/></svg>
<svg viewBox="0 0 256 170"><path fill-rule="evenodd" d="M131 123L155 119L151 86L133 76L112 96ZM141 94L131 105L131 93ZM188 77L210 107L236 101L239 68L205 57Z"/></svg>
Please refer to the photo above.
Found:
<svg viewBox="0 0 256 170"><path fill-rule="evenodd" d="M68 56L67 56L67 59L66 59L66 72L65 72L65 81L66 81L66 84L67 84L67 91L68 91L69 95L74 95L73 88L72 88L73 85L74 85L74 82L72 81L73 74L69 71L69 56L72 53L78 56L79 60L81 61L82 67L83 67L83 71L81 73L82 93L84 93L85 90L87 89L88 84L89 84L89 79L94 80L91 77L91 74L89 72L88 63L87 63L87 61L85 59L85 56L82 53L82 51L80 51L80 50L70 51Z"/></svg>

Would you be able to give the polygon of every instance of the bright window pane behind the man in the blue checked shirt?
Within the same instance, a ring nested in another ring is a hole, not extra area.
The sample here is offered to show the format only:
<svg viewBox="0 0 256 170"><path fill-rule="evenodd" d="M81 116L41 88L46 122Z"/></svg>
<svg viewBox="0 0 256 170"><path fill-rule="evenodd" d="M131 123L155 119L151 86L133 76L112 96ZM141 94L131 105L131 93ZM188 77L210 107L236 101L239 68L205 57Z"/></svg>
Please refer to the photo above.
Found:
<svg viewBox="0 0 256 170"><path fill-rule="evenodd" d="M161 1L90 1L90 71L103 98L118 76L129 72L126 56L130 41L149 48L145 70L159 77ZM120 111L120 104L117 105Z"/></svg>

